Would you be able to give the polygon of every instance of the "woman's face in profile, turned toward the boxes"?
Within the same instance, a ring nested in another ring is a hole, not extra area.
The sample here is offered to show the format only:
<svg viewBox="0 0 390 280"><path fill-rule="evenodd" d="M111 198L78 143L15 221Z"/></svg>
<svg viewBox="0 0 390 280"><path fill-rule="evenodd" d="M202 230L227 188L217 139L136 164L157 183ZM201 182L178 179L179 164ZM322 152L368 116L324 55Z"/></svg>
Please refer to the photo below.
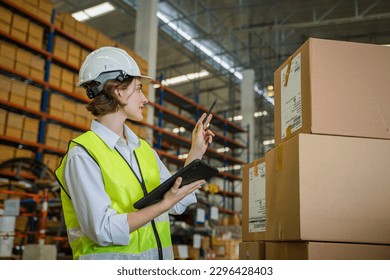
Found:
<svg viewBox="0 0 390 280"><path fill-rule="evenodd" d="M119 98L123 104L126 104L122 110L127 118L133 121L142 121L142 110L148 99L142 92L140 78L135 78L131 84L124 90L119 90Z"/></svg>

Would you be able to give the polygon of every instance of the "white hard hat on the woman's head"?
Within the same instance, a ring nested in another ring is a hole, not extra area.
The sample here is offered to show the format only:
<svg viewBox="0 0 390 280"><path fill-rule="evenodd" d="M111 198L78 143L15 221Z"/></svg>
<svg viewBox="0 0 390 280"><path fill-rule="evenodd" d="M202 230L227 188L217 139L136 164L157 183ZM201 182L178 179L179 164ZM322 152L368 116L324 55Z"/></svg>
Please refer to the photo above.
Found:
<svg viewBox="0 0 390 280"><path fill-rule="evenodd" d="M137 63L126 51L115 47L101 47L91 52L84 60L77 86L92 81L103 86L106 80L126 75L140 77L143 84L148 84L152 80L151 77L141 75Z"/></svg>

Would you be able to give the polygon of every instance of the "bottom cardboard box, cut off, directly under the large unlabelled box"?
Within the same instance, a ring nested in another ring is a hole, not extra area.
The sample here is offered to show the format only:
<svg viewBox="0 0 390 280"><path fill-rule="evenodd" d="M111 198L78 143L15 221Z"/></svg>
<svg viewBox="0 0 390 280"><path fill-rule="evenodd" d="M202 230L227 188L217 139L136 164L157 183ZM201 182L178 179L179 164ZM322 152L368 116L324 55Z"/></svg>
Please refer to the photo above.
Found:
<svg viewBox="0 0 390 280"><path fill-rule="evenodd" d="M266 242L267 260L390 260L390 245Z"/></svg>

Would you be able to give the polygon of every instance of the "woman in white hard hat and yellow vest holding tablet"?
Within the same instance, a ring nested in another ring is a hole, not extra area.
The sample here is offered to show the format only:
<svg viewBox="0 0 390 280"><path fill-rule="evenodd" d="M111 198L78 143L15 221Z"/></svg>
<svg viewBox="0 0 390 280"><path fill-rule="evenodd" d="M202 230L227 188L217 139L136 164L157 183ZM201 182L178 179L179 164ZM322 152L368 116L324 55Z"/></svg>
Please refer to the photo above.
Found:
<svg viewBox="0 0 390 280"><path fill-rule="evenodd" d="M102 47L87 56L77 84L91 100L96 117L91 130L71 141L56 176L74 259L173 259L170 214L181 214L196 202L203 180L178 188L163 200L136 210L133 203L170 177L149 144L125 125L141 121L148 102L142 86L150 82L124 50ZM185 165L201 158L214 134L203 125L192 132Z"/></svg>

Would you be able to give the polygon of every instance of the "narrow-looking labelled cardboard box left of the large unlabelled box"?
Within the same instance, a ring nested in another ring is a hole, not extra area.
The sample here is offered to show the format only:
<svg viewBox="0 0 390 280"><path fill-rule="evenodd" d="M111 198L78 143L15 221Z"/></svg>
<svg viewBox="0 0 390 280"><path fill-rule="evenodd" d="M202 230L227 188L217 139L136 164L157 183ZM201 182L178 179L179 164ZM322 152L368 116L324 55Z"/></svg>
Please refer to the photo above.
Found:
<svg viewBox="0 0 390 280"><path fill-rule="evenodd" d="M242 240L265 240L266 163L257 159L242 168Z"/></svg>

